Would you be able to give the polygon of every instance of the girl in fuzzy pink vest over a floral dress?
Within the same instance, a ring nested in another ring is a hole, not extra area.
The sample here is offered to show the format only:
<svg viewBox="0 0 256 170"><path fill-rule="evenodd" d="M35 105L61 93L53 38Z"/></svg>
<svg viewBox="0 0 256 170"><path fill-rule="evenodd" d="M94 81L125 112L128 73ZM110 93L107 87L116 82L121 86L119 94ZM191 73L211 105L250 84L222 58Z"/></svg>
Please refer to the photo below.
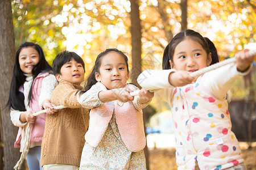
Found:
<svg viewBox="0 0 256 170"><path fill-rule="evenodd" d="M146 137L142 110L154 93L126 84L128 59L117 49L106 49L96 58L85 84L77 95L82 107L90 108L89 129L80 169L146 169L143 148Z"/></svg>

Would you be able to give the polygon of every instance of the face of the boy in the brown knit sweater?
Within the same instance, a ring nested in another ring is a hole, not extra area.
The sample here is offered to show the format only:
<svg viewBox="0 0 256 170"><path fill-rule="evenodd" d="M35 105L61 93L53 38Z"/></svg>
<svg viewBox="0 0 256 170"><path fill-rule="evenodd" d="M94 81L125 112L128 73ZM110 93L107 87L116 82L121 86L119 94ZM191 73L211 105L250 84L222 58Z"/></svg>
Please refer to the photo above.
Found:
<svg viewBox="0 0 256 170"><path fill-rule="evenodd" d="M56 74L56 79L59 82L65 80L69 83L80 84L84 81L84 67L73 58L61 67L60 73Z"/></svg>

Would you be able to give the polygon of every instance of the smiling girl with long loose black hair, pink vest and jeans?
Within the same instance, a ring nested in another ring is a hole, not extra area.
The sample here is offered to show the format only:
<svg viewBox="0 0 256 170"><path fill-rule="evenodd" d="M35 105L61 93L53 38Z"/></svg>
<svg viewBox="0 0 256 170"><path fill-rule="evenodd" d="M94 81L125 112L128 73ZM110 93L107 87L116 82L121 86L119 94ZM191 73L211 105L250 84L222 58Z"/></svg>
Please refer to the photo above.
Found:
<svg viewBox="0 0 256 170"><path fill-rule="evenodd" d="M11 80L9 100L7 107L11 109L11 121L19 127L14 147L24 147L24 126L30 122L30 150L27 154L29 169L42 169L40 167L41 144L44 133L46 114L34 117L32 113L40 108L48 107L48 113L55 110L49 99L57 85L52 73L52 67L44 58L42 48L33 42L23 42L16 51L13 78Z"/></svg>

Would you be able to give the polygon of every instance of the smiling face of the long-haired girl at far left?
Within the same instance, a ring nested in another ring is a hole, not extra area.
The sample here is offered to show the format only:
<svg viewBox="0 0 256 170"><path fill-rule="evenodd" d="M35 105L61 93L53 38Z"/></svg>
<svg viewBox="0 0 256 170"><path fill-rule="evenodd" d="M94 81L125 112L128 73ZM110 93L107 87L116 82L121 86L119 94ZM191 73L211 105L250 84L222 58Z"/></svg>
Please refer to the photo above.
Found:
<svg viewBox="0 0 256 170"><path fill-rule="evenodd" d="M39 53L32 46L20 50L19 67L26 74L32 74L33 67L39 62Z"/></svg>

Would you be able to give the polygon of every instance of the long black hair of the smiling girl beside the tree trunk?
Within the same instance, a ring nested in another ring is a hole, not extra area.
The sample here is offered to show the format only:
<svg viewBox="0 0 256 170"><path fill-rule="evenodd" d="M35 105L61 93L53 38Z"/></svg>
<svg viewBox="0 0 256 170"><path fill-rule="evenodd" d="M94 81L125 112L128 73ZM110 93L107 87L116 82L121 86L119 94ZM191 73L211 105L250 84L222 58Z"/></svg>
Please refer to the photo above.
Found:
<svg viewBox="0 0 256 170"><path fill-rule="evenodd" d="M13 78L11 79L11 87L9 92L9 99L7 101L6 107L10 109L13 108L18 111L26 111L26 107L24 105L24 94L19 91L19 88L23 86L24 82L26 81L26 76L24 75L23 71L20 69L19 66L19 53L23 48L32 47L34 48L39 54L39 62L32 68L32 75L34 79L38 76L39 73L49 72L52 73L52 67L46 61L44 57L43 49L40 45L35 44L34 42L23 42L18 49L16 50L15 54L15 63L13 68ZM32 99L32 86L30 88L30 92L28 94L29 103Z"/></svg>

